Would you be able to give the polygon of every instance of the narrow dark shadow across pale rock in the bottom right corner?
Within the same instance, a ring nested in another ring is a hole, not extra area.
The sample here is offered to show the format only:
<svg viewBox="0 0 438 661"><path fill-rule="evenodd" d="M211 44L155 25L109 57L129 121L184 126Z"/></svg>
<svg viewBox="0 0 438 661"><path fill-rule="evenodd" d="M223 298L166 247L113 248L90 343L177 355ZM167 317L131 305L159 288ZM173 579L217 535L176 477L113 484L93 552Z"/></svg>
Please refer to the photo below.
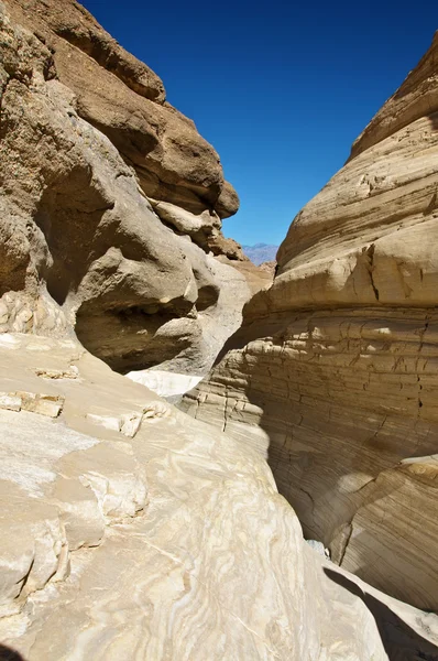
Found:
<svg viewBox="0 0 438 661"><path fill-rule="evenodd" d="M325 574L337 585L348 589L365 604L375 619L377 629L391 661L438 661L438 648L419 636L385 604L363 592L353 581L325 567Z"/></svg>

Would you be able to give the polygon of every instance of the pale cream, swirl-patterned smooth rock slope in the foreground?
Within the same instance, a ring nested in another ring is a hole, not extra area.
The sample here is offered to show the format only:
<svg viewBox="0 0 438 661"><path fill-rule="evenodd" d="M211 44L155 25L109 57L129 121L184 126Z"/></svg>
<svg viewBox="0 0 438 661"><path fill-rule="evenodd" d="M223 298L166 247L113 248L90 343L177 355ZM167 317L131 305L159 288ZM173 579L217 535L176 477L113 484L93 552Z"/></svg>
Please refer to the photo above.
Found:
<svg viewBox="0 0 438 661"><path fill-rule="evenodd" d="M0 641L26 661L384 661L438 643L436 616L305 543L258 452L75 340L1 335L0 389L63 402L51 419L0 399Z"/></svg>

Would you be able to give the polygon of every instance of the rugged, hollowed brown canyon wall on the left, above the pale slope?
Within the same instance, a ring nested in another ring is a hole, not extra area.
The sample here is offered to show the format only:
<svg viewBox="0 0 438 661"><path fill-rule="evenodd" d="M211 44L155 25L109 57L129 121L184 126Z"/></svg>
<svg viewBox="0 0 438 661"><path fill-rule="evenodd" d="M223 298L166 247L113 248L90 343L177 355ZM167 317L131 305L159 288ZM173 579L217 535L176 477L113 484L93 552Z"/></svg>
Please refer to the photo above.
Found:
<svg viewBox="0 0 438 661"><path fill-rule="evenodd" d="M216 152L76 2L0 20L0 330L75 328L120 371L204 375L250 296L213 257L243 259Z"/></svg>

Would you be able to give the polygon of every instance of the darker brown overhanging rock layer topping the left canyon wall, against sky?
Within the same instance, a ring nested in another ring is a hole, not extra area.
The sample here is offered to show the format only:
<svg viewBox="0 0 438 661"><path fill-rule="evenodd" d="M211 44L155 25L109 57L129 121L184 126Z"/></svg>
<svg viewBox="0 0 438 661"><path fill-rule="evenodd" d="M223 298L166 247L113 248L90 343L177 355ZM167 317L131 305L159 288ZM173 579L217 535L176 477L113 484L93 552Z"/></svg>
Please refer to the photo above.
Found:
<svg viewBox="0 0 438 661"><path fill-rule="evenodd" d="M14 19L54 51L59 79L77 97L80 117L106 133L156 199L199 214L239 199L216 151L191 120L164 102L161 79L127 53L77 2L8 0Z"/></svg>

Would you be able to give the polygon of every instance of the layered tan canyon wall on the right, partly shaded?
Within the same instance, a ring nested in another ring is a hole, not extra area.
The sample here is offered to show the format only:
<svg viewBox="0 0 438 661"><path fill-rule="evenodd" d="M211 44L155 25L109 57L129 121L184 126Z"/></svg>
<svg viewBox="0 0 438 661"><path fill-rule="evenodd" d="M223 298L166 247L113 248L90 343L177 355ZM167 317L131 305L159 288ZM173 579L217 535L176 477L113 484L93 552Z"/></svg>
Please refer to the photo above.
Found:
<svg viewBox="0 0 438 661"><path fill-rule="evenodd" d="M438 37L282 243L185 409L269 457L306 537L438 608Z"/></svg>

